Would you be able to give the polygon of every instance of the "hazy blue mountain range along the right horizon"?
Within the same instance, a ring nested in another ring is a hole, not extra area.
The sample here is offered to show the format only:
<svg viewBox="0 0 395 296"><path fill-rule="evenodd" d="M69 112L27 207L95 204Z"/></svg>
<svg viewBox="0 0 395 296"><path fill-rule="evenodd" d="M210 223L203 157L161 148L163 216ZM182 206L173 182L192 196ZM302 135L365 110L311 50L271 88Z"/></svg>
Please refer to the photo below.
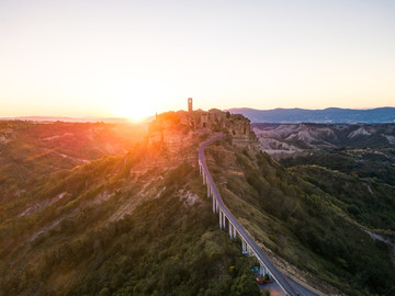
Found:
<svg viewBox="0 0 395 296"><path fill-rule="evenodd" d="M328 107L306 109L229 109L230 113L242 114L252 123L395 123L395 107L353 110Z"/></svg>

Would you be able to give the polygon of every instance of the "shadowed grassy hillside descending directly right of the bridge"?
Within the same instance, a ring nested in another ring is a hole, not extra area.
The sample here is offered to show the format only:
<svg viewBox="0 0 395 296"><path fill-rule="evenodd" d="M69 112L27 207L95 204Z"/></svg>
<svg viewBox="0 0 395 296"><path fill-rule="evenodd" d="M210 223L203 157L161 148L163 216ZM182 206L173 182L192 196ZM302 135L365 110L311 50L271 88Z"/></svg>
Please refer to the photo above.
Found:
<svg viewBox="0 0 395 296"><path fill-rule="evenodd" d="M276 264L328 294L337 293L330 286L348 295L394 294L395 272L388 247L361 230L334 192L323 191L266 153L235 149L226 139L208 151L207 164L224 202L262 248L276 258ZM330 183L325 174L311 178ZM330 179L334 187L340 181L354 186L346 177ZM374 215L376 209L370 210ZM373 227L368 219L365 225Z"/></svg>

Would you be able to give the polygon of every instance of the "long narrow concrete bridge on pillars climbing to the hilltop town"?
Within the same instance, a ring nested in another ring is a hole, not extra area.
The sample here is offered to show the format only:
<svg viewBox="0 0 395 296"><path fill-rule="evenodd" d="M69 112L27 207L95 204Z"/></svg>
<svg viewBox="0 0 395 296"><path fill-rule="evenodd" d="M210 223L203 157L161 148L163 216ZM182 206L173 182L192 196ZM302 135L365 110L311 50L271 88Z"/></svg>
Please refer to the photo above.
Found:
<svg viewBox="0 0 395 296"><path fill-rule="evenodd" d="M205 163L204 149L212 143L223 138L224 135L218 135L199 147L199 171L203 177L203 184L207 185L207 197L213 198L213 213L219 214L219 229L226 229L226 220L228 225L229 236L232 239L239 237L241 239L241 252L244 254L255 255L260 264L260 275L269 274L273 278L285 295L294 296L302 295L297 293L293 286L286 281L286 278L275 269L275 266L269 261L268 257L257 246L252 238L247 234L245 228L237 221L235 216L225 206L216 186L211 177L207 166Z"/></svg>

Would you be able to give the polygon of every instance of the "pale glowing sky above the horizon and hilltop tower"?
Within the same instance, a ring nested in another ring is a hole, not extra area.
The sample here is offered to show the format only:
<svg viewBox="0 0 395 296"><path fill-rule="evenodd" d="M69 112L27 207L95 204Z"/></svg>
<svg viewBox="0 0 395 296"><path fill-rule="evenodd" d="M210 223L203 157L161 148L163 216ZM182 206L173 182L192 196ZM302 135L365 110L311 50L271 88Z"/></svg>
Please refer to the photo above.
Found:
<svg viewBox="0 0 395 296"><path fill-rule="evenodd" d="M395 106L395 1L0 0L0 116Z"/></svg>

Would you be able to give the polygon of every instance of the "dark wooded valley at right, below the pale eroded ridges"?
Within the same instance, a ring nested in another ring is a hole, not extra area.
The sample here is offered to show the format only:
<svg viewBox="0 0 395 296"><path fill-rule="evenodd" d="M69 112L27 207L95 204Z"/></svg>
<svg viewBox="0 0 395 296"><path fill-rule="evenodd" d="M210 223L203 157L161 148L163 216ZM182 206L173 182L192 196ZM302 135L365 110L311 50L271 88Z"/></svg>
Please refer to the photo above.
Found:
<svg viewBox="0 0 395 296"><path fill-rule="evenodd" d="M283 160L289 171L336 196L339 207L369 228L395 230L393 149L315 151Z"/></svg>

